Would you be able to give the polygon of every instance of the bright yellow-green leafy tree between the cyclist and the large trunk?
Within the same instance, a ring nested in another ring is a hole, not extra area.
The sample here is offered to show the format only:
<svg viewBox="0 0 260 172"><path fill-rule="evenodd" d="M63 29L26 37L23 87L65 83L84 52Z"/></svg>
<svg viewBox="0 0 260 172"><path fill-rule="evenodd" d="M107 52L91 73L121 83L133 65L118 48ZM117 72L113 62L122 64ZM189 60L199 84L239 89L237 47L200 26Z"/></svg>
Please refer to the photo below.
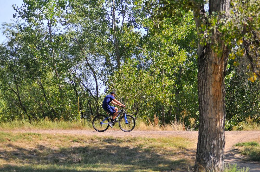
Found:
<svg viewBox="0 0 260 172"><path fill-rule="evenodd" d="M109 90L116 90L130 111L138 108L146 120L157 114L161 123L170 122L176 115L180 118L181 111L196 118L196 61L194 49L187 45L195 39L195 24L191 12L179 20L178 25L171 19L158 21L157 29L151 19L143 20L148 32L142 52L109 78Z"/></svg>

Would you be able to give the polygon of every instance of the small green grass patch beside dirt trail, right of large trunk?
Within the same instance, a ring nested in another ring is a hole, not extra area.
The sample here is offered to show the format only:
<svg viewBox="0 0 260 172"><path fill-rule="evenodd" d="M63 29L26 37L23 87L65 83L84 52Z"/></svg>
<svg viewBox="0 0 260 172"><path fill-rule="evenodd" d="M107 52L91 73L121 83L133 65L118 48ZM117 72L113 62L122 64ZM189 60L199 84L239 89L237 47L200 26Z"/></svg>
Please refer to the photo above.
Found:
<svg viewBox="0 0 260 172"><path fill-rule="evenodd" d="M248 155L251 161L260 161L260 145L256 141L237 143L234 146L240 149L242 155Z"/></svg>

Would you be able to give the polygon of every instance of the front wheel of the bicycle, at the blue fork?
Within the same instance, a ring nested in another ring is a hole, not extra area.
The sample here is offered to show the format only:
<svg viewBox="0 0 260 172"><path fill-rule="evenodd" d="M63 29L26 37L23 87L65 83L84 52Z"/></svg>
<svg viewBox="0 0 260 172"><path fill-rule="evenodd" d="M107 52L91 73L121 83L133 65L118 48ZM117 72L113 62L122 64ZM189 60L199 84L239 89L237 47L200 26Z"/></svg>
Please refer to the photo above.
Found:
<svg viewBox="0 0 260 172"><path fill-rule="evenodd" d="M124 132L130 132L134 130L135 127L135 119L131 115L123 115L119 119L119 127Z"/></svg>

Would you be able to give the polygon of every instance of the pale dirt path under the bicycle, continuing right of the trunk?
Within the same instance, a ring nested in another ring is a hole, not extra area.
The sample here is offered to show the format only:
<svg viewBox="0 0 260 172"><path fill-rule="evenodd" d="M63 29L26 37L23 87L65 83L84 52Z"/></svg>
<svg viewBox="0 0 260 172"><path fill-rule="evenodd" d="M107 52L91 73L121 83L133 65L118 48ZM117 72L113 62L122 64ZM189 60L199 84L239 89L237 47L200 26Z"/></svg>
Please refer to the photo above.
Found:
<svg viewBox="0 0 260 172"><path fill-rule="evenodd" d="M12 132L34 132L34 133L48 133L48 134L86 134L86 135L100 135L100 136L114 136L114 137L183 137L188 138L197 143L197 131L132 131L122 132L115 130L108 130L106 132L84 131L84 130L15 130ZM232 146L238 142L245 142L260 139L260 131L226 131L225 144L225 163L237 164L238 167L249 167L250 172L260 171L259 162L250 162L245 160L245 156L241 155Z"/></svg>

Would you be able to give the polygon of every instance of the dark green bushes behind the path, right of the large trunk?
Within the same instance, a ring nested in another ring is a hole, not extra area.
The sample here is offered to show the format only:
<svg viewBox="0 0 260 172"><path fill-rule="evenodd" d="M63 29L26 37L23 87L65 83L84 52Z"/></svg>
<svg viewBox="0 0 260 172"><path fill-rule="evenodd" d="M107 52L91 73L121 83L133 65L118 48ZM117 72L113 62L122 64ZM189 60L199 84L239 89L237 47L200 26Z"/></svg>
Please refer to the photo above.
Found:
<svg viewBox="0 0 260 172"><path fill-rule="evenodd" d="M255 122L256 125L259 125L259 81L251 82L249 80L250 70L246 67L248 61L241 60L236 67L232 65L233 62L234 60L229 60L225 77L226 130L231 130L234 126L243 130L242 126L250 126ZM247 120L248 118L252 121Z"/></svg>

